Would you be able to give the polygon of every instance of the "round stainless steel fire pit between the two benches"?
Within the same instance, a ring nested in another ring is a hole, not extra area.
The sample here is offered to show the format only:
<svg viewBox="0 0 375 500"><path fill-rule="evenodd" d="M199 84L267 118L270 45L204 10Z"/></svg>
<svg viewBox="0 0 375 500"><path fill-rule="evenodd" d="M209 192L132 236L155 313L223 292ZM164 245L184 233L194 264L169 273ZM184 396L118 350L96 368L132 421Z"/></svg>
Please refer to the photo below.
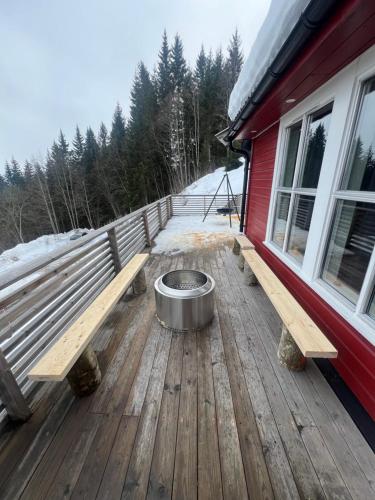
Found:
<svg viewBox="0 0 375 500"><path fill-rule="evenodd" d="M215 281L206 273L170 271L155 281L156 312L166 328L200 330L214 315Z"/></svg>

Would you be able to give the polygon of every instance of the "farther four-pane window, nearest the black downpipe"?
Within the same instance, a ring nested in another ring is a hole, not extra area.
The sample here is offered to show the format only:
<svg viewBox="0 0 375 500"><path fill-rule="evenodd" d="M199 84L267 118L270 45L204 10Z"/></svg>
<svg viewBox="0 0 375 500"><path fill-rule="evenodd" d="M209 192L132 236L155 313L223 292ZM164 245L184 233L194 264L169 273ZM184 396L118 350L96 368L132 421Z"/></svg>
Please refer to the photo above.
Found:
<svg viewBox="0 0 375 500"><path fill-rule="evenodd" d="M286 130L272 241L302 264L323 163L332 103Z"/></svg>

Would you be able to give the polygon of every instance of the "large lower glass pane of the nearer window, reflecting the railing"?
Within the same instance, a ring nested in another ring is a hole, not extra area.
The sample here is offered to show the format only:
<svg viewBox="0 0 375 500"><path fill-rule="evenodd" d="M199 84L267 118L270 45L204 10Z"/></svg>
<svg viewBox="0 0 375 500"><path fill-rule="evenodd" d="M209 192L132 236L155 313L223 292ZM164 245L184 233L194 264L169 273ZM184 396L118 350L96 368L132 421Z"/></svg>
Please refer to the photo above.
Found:
<svg viewBox="0 0 375 500"><path fill-rule="evenodd" d="M375 205L339 200L336 205L322 278L357 302L375 241Z"/></svg>

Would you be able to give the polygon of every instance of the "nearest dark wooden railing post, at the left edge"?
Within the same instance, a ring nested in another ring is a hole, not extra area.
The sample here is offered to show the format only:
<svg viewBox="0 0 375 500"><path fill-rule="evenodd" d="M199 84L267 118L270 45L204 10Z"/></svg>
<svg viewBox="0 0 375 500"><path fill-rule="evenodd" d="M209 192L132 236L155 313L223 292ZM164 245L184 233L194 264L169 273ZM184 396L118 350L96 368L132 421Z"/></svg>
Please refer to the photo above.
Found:
<svg viewBox="0 0 375 500"><path fill-rule="evenodd" d="M24 422L31 417L31 410L1 350L0 399L10 419Z"/></svg>

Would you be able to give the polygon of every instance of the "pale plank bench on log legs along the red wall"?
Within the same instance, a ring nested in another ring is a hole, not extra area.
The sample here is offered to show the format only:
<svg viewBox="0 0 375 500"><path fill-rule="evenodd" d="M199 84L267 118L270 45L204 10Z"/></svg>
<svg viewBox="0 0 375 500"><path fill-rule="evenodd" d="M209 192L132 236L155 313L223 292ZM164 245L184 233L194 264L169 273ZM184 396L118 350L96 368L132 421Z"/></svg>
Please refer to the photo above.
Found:
<svg viewBox="0 0 375 500"><path fill-rule="evenodd" d="M245 280L260 283L283 322L278 358L290 370L302 370L306 358L337 358L337 350L255 249L243 250Z"/></svg>

